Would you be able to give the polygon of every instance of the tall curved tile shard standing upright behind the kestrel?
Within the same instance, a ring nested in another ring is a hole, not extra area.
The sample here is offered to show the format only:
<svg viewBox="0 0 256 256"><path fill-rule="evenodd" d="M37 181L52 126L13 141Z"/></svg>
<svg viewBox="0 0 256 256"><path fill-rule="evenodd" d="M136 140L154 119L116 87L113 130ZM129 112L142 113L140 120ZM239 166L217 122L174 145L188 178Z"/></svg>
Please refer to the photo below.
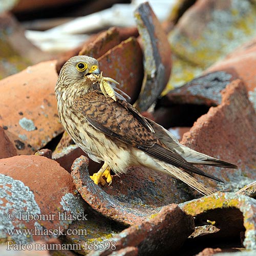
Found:
<svg viewBox="0 0 256 256"><path fill-rule="evenodd" d="M146 111L165 88L172 68L170 45L159 20L148 3L134 13L144 47L144 79L136 108Z"/></svg>

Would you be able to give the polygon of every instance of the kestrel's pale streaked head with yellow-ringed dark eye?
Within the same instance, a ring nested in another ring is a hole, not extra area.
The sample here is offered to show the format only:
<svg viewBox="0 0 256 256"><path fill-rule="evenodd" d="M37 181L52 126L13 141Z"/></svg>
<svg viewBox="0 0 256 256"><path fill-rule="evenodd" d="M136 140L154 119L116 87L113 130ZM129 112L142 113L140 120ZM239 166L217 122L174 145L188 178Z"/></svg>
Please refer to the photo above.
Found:
<svg viewBox="0 0 256 256"><path fill-rule="evenodd" d="M70 58L61 68L56 87L62 89L76 89L89 87L91 80L87 79L90 74L100 74L99 63L95 58L79 55Z"/></svg>

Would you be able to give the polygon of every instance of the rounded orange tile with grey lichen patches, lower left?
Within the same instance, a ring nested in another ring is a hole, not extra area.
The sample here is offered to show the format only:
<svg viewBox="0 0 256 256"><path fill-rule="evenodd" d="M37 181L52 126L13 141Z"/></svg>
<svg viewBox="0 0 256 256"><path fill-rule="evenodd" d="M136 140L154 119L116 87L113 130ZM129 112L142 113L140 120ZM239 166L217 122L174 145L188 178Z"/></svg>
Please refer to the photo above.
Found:
<svg viewBox="0 0 256 256"><path fill-rule="evenodd" d="M68 228L67 215L84 211L70 174L51 159L15 156L0 159L1 238L15 243L49 240L47 230ZM34 234L8 234L7 229L31 229ZM36 231L37 229L37 231ZM40 231L41 230L41 231ZM44 230L44 232L42 232ZM56 236L61 235L57 231Z"/></svg>

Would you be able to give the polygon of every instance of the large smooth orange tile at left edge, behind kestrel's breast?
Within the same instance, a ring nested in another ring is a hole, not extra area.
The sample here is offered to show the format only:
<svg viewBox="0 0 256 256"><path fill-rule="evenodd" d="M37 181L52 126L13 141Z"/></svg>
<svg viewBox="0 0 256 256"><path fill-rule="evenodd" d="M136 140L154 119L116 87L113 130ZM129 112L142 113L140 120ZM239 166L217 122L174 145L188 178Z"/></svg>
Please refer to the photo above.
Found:
<svg viewBox="0 0 256 256"><path fill-rule="evenodd" d="M18 155L33 154L63 131L54 94L55 65L55 60L40 62L0 81L0 125Z"/></svg>

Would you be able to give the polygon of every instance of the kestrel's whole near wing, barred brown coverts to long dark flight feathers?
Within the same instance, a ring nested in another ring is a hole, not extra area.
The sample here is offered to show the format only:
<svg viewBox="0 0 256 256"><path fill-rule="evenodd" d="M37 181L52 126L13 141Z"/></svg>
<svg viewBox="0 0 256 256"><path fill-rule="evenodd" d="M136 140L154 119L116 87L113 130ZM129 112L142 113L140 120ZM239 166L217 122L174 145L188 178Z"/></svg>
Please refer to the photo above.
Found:
<svg viewBox="0 0 256 256"><path fill-rule="evenodd" d="M130 103L120 99L113 101L94 91L76 98L73 106L95 129L105 135L140 148L148 155L186 171L221 181L188 163L172 148L161 143L154 135L151 124Z"/></svg>

